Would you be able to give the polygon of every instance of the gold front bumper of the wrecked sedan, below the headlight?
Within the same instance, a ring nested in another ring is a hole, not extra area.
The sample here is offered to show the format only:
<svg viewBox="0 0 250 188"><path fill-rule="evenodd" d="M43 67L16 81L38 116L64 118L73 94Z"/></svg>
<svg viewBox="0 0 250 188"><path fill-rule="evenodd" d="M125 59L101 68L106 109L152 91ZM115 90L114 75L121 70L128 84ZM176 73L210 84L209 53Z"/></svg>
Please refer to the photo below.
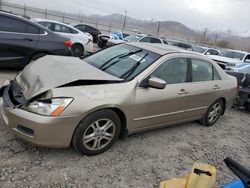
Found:
<svg viewBox="0 0 250 188"><path fill-rule="evenodd" d="M4 123L16 136L46 147L68 147L80 116L41 116L22 109L7 107L0 98Z"/></svg>

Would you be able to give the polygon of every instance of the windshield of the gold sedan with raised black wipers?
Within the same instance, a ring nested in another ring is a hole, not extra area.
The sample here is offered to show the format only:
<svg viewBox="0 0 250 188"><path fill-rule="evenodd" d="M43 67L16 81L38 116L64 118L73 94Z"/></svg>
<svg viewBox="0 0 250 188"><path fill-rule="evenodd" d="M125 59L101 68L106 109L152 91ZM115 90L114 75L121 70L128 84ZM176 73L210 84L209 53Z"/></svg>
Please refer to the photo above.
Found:
<svg viewBox="0 0 250 188"><path fill-rule="evenodd" d="M120 44L89 56L84 61L113 76L129 81L159 57L160 55L157 53L128 44ZM138 66L135 66L136 64ZM129 73L130 70L132 70L131 73ZM124 77L125 73L128 73L129 76Z"/></svg>

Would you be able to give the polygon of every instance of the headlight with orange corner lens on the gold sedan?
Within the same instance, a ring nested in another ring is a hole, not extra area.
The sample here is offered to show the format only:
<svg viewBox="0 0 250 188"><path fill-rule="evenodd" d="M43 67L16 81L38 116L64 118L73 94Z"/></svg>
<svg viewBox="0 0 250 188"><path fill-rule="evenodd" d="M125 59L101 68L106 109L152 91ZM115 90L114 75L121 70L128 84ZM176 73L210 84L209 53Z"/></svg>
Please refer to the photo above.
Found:
<svg viewBox="0 0 250 188"><path fill-rule="evenodd" d="M23 106L22 109L45 116L58 116L72 101L73 98L37 100Z"/></svg>

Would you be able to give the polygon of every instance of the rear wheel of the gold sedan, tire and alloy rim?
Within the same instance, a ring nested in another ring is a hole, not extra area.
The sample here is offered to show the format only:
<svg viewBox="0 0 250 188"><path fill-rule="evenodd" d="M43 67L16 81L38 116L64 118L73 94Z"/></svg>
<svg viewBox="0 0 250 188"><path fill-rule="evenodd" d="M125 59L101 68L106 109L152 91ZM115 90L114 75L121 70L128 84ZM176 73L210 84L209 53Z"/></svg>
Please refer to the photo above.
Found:
<svg viewBox="0 0 250 188"><path fill-rule="evenodd" d="M200 123L205 126L214 125L224 111L224 104L221 99L216 100L203 115Z"/></svg>

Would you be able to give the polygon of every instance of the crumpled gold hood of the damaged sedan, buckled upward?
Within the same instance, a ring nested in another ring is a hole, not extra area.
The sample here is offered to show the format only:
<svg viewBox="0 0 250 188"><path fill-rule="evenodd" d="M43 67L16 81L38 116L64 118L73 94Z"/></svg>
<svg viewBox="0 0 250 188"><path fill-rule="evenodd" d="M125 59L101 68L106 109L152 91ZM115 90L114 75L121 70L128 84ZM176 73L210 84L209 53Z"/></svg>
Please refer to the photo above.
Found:
<svg viewBox="0 0 250 188"><path fill-rule="evenodd" d="M77 57L47 55L27 65L16 77L29 100L45 91L78 80L122 81Z"/></svg>

